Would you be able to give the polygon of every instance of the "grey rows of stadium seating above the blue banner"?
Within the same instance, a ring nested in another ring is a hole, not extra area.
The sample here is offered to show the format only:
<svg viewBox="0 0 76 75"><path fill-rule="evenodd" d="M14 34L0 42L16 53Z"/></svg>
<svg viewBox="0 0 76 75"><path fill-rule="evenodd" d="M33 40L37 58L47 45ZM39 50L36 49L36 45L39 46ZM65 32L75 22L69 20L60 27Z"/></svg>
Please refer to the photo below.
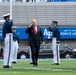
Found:
<svg viewBox="0 0 76 75"><path fill-rule="evenodd" d="M9 12L9 3L0 4L0 20ZM13 3L14 24L29 24L37 19L38 25L49 25L57 20L59 25L76 25L76 3Z"/></svg>

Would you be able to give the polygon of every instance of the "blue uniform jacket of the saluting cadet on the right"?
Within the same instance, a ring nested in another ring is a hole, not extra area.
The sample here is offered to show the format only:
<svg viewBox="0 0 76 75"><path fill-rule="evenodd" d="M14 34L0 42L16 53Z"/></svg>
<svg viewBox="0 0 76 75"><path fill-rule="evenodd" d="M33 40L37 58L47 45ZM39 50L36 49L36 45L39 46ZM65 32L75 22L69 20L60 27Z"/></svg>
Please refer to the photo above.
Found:
<svg viewBox="0 0 76 75"><path fill-rule="evenodd" d="M55 27L49 27L49 31L53 32L52 37L55 37L57 39L57 42L60 41L60 32L57 26Z"/></svg>

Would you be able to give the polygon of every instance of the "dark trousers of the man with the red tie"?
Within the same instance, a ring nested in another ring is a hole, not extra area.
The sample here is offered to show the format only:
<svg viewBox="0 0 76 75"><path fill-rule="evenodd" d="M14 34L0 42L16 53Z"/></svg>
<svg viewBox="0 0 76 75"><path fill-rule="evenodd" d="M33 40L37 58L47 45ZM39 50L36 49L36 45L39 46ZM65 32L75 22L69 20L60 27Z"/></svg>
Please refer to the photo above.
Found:
<svg viewBox="0 0 76 75"><path fill-rule="evenodd" d="M30 47L31 47L31 52L32 52L33 65L37 66L40 46L30 46Z"/></svg>

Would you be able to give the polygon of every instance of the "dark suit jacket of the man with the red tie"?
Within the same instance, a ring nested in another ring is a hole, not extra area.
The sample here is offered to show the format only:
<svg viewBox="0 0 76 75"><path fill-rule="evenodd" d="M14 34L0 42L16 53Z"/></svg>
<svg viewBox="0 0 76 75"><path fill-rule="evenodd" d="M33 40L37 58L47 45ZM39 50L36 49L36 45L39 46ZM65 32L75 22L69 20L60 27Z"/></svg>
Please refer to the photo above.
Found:
<svg viewBox="0 0 76 75"><path fill-rule="evenodd" d="M43 33L40 27L37 26L37 34L34 33L34 27L28 27L25 31L28 33L28 44L29 46L40 46L41 41L44 41Z"/></svg>

